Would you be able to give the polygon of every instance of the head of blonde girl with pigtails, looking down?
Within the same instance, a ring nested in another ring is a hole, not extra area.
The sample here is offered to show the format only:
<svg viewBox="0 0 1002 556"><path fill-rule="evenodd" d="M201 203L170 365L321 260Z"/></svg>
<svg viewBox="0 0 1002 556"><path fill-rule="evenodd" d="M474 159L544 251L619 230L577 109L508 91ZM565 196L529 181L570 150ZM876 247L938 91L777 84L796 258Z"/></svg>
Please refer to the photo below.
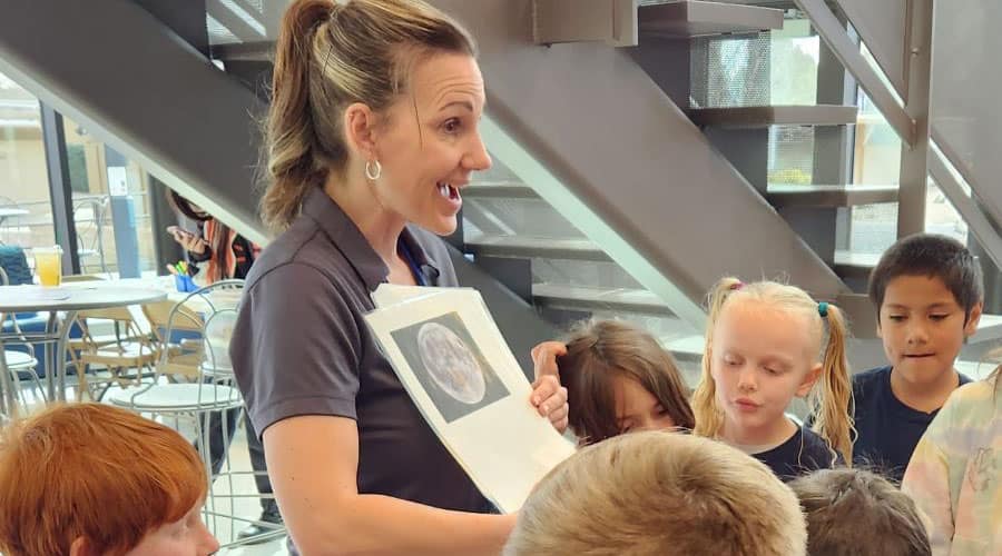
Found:
<svg viewBox="0 0 1002 556"><path fill-rule="evenodd" d="M768 430L794 397L806 396L814 429L851 461L845 337L842 311L800 288L720 280L709 296L703 379L692 397L696 433Z"/></svg>

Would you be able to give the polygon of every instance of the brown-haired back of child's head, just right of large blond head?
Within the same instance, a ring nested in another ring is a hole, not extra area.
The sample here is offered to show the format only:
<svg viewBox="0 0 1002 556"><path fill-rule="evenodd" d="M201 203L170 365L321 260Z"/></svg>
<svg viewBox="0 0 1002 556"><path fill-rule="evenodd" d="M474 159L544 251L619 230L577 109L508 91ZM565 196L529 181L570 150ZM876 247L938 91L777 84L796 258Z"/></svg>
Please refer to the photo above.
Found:
<svg viewBox="0 0 1002 556"><path fill-rule="evenodd" d="M915 503L861 469L823 469L789 484L807 514L811 556L932 554Z"/></svg>

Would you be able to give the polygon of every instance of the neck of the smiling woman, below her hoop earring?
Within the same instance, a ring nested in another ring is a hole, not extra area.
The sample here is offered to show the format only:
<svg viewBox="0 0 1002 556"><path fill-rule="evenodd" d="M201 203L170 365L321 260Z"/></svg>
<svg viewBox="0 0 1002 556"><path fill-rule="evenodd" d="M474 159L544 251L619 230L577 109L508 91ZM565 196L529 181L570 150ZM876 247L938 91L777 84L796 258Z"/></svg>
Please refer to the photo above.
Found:
<svg viewBox="0 0 1002 556"><path fill-rule="evenodd" d="M376 255L393 268L399 259L396 245L406 221L384 207L365 181L343 181L334 173L324 183L324 192L355 224Z"/></svg>

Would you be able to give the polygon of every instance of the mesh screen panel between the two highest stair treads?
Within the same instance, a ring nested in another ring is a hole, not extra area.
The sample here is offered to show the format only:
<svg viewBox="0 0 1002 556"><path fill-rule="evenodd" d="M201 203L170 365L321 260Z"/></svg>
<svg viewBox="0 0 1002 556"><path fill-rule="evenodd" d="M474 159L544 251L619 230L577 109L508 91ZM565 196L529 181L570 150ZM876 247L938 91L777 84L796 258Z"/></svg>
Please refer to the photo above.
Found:
<svg viewBox="0 0 1002 556"><path fill-rule="evenodd" d="M690 106L724 108L769 103L769 33L692 40Z"/></svg>

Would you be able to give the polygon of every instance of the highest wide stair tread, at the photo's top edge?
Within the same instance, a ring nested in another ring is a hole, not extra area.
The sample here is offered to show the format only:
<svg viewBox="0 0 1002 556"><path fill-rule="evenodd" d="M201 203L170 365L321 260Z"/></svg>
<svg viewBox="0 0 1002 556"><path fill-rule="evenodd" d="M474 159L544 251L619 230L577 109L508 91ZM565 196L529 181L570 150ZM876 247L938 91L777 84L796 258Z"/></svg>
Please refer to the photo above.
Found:
<svg viewBox="0 0 1002 556"><path fill-rule="evenodd" d="M642 36L675 39L783 29L782 10L721 2L645 2L637 18Z"/></svg>

